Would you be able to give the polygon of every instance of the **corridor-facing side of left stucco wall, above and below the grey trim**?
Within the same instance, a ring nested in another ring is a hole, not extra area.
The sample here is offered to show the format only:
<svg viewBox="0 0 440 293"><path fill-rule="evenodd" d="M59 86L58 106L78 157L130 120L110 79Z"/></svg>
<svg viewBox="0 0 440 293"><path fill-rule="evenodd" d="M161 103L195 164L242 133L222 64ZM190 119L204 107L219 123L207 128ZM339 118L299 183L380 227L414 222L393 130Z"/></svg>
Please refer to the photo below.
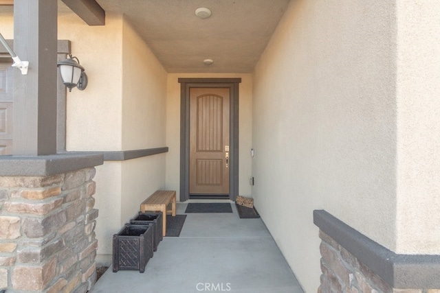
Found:
<svg viewBox="0 0 440 293"><path fill-rule="evenodd" d="M148 45L122 21L122 149L160 148L165 145L167 73ZM164 189L165 158L155 154L122 162L122 222L140 209L140 203Z"/></svg>

